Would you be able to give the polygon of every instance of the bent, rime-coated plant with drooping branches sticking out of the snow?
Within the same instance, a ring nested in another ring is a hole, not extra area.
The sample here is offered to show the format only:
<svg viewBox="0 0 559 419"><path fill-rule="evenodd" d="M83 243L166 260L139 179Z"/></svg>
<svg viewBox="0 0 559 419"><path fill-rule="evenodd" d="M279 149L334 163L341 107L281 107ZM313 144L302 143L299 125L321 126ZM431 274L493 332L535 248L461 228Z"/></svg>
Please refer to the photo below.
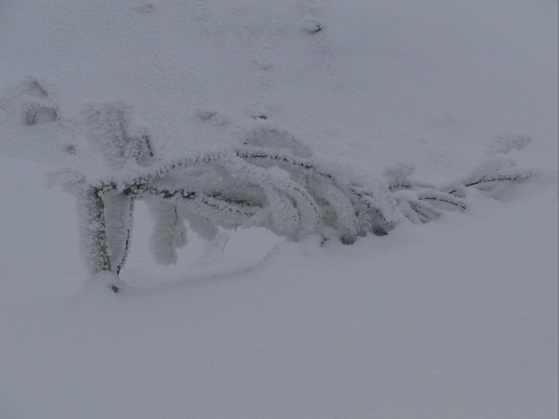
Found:
<svg viewBox="0 0 559 419"><path fill-rule="evenodd" d="M85 116L88 139L112 175L87 179L66 170L54 179L78 197L88 271L113 278L115 292L137 199L146 200L154 220L151 253L170 265L187 243L185 223L207 240L219 228L260 226L289 240L320 234L351 244L369 233L386 235L402 219L428 223L444 211L465 210L468 188L491 190L530 176L510 159L493 159L442 187L412 179L415 169L406 163L385 169L383 178L363 178L264 121L237 130L231 148L160 161L153 159L148 130L132 122L124 105L88 105Z"/></svg>

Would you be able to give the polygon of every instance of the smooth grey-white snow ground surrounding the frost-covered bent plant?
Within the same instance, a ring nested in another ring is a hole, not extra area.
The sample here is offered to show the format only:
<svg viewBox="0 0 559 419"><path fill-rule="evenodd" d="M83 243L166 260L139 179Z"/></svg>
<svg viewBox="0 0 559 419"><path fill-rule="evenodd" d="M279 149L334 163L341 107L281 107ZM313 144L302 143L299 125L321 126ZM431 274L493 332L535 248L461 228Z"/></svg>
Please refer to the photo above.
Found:
<svg viewBox="0 0 559 419"><path fill-rule="evenodd" d="M556 1L7 0L0 57L0 418L556 417ZM140 205L138 291L84 295L74 199L45 175L102 170L79 111L106 99L163 157L265 114L435 182L522 133L509 156L538 176L353 246L191 234L169 269ZM37 103L56 121L29 125Z"/></svg>

